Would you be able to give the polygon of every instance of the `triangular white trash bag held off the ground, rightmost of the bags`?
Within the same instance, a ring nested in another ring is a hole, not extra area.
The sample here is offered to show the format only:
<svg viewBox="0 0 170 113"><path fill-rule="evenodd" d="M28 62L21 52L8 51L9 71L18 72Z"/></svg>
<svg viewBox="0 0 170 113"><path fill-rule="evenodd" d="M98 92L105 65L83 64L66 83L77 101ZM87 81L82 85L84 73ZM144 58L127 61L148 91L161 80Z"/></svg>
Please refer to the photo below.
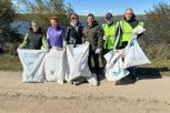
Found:
<svg viewBox="0 0 170 113"><path fill-rule="evenodd" d="M124 69L151 63L138 44L137 40L131 40L127 48L128 49L124 49L127 51L124 52Z"/></svg>

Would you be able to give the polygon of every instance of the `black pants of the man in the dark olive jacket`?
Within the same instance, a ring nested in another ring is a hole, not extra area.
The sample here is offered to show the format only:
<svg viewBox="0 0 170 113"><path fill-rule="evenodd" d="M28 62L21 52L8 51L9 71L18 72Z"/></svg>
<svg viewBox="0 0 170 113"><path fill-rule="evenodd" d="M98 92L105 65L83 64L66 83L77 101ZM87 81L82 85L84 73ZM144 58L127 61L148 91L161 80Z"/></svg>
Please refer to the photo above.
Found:
<svg viewBox="0 0 170 113"><path fill-rule="evenodd" d="M92 68L92 62L91 62L92 59L94 61L94 70ZM99 74L99 54L96 53L94 50L91 50L91 49L89 50L88 64L89 64L89 69L91 73L96 73L98 75Z"/></svg>

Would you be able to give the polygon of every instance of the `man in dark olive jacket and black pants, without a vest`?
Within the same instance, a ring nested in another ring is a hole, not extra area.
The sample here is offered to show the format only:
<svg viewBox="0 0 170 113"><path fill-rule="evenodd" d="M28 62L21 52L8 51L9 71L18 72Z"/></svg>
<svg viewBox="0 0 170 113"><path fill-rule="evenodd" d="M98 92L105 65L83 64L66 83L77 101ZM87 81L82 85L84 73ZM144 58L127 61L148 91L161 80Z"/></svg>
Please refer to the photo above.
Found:
<svg viewBox="0 0 170 113"><path fill-rule="evenodd" d="M101 27L99 27L92 13L88 14L87 21L88 21L88 25L83 28L82 40L84 43L90 43L88 63L89 63L89 68L92 74L96 73L98 76L99 74L99 54L102 51L103 30ZM92 66L91 66L91 55L94 61L94 71L92 70Z"/></svg>

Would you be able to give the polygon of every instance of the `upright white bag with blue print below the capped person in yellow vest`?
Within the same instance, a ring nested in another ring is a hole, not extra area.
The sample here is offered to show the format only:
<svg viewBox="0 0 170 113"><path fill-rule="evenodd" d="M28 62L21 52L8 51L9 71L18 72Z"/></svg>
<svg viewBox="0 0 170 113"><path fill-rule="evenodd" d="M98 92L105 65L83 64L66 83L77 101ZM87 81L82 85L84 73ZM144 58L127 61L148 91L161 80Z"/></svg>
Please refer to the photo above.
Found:
<svg viewBox="0 0 170 113"><path fill-rule="evenodd" d="M108 81L118 81L129 74L129 71L123 69L123 61L121 58L122 51L110 51L104 55L107 60L106 78Z"/></svg>

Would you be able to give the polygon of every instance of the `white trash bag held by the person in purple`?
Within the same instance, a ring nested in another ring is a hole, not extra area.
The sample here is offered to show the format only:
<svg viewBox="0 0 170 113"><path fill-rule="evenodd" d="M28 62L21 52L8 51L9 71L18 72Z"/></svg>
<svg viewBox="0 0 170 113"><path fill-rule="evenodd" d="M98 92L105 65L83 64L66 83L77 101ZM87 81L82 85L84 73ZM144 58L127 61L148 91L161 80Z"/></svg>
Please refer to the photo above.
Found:
<svg viewBox="0 0 170 113"><path fill-rule="evenodd" d="M44 58L46 80L49 82L58 82L63 84L63 55L62 50L50 49L50 52Z"/></svg>

